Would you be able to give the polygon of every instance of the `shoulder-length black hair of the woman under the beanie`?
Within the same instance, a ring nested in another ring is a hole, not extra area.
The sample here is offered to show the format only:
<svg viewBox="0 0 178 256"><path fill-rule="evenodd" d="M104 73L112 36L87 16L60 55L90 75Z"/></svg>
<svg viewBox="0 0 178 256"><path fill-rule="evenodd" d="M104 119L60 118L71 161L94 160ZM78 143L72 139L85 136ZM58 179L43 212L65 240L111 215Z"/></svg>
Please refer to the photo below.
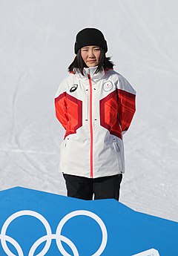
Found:
<svg viewBox="0 0 178 256"><path fill-rule="evenodd" d="M104 68L104 70L113 69L113 65L114 65L113 62L111 62L111 57L105 56L105 50L102 47L100 47L100 50L101 50L101 54L99 57L99 65L95 73L98 73L99 70L102 70L102 68ZM81 55L81 49L79 49L78 52L76 53L75 59L69 65L68 71L73 73L76 73L76 71L79 71L84 76L84 73L83 73L84 68L88 68L88 66L83 61L82 55Z"/></svg>

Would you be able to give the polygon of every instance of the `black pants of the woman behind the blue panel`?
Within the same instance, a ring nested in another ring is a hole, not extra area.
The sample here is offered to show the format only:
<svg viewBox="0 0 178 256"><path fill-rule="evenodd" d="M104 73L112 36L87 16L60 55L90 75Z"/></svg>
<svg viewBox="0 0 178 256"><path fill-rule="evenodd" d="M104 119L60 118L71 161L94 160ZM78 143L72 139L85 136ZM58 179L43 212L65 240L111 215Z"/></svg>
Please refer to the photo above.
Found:
<svg viewBox="0 0 178 256"><path fill-rule="evenodd" d="M119 200L122 174L95 179L63 174L67 187L67 196L84 200L114 198Z"/></svg>

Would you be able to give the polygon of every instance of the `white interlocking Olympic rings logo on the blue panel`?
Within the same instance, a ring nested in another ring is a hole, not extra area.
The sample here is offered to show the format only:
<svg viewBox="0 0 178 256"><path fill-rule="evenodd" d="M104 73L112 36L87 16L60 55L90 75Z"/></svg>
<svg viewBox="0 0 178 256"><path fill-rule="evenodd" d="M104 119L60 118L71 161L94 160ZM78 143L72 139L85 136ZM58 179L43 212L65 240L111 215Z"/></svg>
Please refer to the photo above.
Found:
<svg viewBox="0 0 178 256"><path fill-rule="evenodd" d="M70 220L72 217L76 217L80 215L88 216L93 220L95 220L96 223L99 224L100 229L102 230L102 243L99 246L99 249L91 256L99 256L105 250L105 246L108 240L108 233L105 227L105 223L103 223L102 219L98 215L94 214L91 211L79 210L79 211L70 212L65 217L63 217L62 220L59 222L56 229L56 234L52 234L50 229L50 224L42 216L42 214L39 214L36 211L24 210L24 211L17 211L16 213L12 214L10 217L8 217L8 219L4 222L4 225L2 226L0 241L1 241L1 246L4 249L4 252L8 256L16 256L16 255L14 255L13 252L11 252L10 249L7 247L7 242L11 243L15 247L16 251L18 252L18 256L24 256L24 253L19 243L17 243L16 240L13 239L13 237L8 236L6 232L7 232L8 226L13 220L15 220L17 217L22 217L25 215L36 217L38 220L42 222L42 224L44 225L44 228L46 229L46 235L39 238L38 240L36 240L35 243L33 243L33 246L30 248L30 252L28 253L28 256L34 256L34 253L36 252L36 249L38 248L38 246L44 241L46 241L42 251L39 252L38 255L36 255L36 256L44 256L47 253L47 251L50 249L50 245L53 239L56 240L56 246L58 247L59 252L61 252L63 256L71 256L71 255L69 255L65 251L64 247L62 246L62 241L67 243L67 245L70 247L71 251L73 252L73 256L79 256L79 252L76 249L76 246L73 244L71 240L63 236L61 232L62 232L63 226L65 225L65 223L67 223L68 220Z"/></svg>

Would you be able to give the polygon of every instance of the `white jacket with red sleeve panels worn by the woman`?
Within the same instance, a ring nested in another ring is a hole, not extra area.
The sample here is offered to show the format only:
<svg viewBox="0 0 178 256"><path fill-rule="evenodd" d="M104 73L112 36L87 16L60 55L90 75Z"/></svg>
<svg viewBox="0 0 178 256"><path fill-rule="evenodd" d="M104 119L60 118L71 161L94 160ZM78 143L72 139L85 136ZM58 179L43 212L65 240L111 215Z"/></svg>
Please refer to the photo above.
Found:
<svg viewBox="0 0 178 256"><path fill-rule="evenodd" d="M114 70L70 73L56 93L56 117L65 128L60 171L82 177L125 172L122 135L135 113L136 91Z"/></svg>

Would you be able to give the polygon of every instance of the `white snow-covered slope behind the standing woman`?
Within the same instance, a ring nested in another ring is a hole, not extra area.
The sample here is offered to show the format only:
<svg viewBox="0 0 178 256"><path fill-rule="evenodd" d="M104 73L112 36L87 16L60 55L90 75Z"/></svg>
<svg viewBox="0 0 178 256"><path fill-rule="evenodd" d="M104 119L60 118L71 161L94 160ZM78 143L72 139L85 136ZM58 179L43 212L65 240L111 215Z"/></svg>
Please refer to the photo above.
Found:
<svg viewBox="0 0 178 256"><path fill-rule="evenodd" d="M76 33L97 27L137 91L120 201L178 221L177 11L176 0L0 1L0 190L66 194L53 98Z"/></svg>

